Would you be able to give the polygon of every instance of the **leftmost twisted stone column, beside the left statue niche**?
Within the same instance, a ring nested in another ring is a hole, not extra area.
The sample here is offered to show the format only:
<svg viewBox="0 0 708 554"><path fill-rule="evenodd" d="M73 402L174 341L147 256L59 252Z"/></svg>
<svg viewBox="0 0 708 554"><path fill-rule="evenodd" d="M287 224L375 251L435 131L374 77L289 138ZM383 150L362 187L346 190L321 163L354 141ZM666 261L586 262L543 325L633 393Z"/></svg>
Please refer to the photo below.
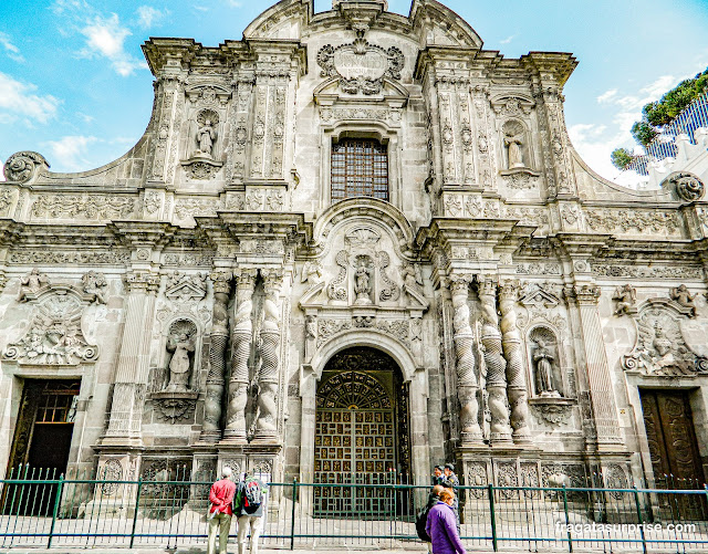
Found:
<svg viewBox="0 0 708 554"><path fill-rule="evenodd" d="M204 406L204 426L200 440L216 442L221 438L221 401L223 399L223 369L226 345L229 341L229 316L227 305L231 292L231 272L212 271L214 311L211 323L211 349L209 351L209 375L207 398Z"/></svg>

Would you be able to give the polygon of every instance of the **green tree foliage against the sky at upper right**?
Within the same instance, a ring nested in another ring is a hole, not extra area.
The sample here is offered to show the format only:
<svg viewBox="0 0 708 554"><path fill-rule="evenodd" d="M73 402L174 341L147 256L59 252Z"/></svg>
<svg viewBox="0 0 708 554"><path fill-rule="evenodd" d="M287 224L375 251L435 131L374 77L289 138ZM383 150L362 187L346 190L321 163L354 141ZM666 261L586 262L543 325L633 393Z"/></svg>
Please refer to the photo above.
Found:
<svg viewBox="0 0 708 554"><path fill-rule="evenodd" d="M698 96L708 91L708 69L696 74L694 79L681 81L668 91L660 100L649 102L642 108L642 119L632 126L632 136L645 148L681 111ZM626 148L616 148L612 153L612 163L623 169L631 161L632 154Z"/></svg>

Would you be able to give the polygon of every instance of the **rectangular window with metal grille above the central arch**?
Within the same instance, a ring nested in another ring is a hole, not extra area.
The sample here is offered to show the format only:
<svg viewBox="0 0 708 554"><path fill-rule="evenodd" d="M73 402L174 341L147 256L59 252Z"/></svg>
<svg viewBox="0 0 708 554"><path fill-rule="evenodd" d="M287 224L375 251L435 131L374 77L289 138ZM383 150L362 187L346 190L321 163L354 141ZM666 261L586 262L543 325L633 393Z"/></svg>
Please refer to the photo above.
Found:
<svg viewBox="0 0 708 554"><path fill-rule="evenodd" d="M388 154L378 140L347 138L332 145L332 200L353 196L388 200Z"/></svg>

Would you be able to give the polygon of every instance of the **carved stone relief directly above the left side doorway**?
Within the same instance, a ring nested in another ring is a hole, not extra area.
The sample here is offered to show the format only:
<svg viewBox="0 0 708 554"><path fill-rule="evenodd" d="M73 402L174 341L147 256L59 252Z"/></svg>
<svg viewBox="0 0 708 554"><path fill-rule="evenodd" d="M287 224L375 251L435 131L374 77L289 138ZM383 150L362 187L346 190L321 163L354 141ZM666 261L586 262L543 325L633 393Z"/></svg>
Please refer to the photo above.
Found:
<svg viewBox="0 0 708 554"><path fill-rule="evenodd" d="M35 302L37 309L24 336L2 353L4 359L34 365L79 365L98 357L98 347L88 344L81 328L83 309L95 296L66 285L48 285L38 294L27 292L23 299Z"/></svg>

